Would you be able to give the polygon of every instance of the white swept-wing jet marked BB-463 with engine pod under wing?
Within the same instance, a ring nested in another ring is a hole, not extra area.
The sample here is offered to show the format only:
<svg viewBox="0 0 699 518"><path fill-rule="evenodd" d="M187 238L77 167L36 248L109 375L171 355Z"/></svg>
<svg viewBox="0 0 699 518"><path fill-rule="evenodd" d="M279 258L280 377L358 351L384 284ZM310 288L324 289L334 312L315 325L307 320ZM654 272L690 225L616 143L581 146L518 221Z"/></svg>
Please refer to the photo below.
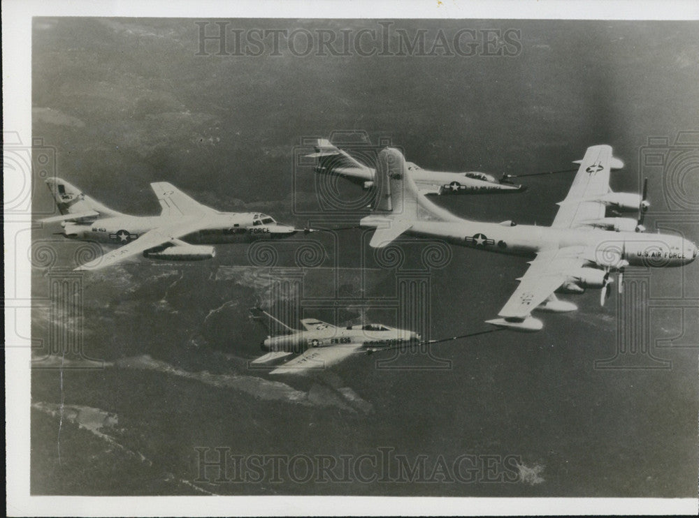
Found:
<svg viewBox="0 0 699 518"><path fill-rule="evenodd" d="M164 260L202 260L215 256L207 244L245 243L279 239L298 232L271 216L252 212L218 212L189 198L168 182L150 184L162 207L159 216L129 216L105 207L60 178L46 180L61 216L43 219L61 222L70 239L120 245L78 270L108 267L140 253Z"/></svg>

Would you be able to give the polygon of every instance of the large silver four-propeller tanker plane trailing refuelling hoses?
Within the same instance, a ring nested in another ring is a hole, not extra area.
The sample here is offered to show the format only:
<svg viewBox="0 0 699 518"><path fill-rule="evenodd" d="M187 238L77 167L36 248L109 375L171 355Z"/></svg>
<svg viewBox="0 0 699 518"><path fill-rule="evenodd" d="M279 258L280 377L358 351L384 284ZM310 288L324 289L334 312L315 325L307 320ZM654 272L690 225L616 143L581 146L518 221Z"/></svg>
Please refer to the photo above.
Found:
<svg viewBox="0 0 699 518"><path fill-rule="evenodd" d="M541 320L531 311L565 312L575 304L555 293L583 293L601 288L600 303L608 294L611 272L621 274L628 265L682 266L697 256L688 239L667 234L644 234L643 214L649 204L643 194L613 193L610 168L623 163L612 156L612 147L589 147L568 196L558 205L550 227L516 225L512 221L482 223L455 216L428 200L410 175L397 149L384 149L378 157L377 202L362 226L376 228L370 246L387 246L403 232L438 237L475 249L531 258L518 280L519 287L494 320L488 323L521 331L538 331ZM637 212L638 218L605 217L607 209Z"/></svg>

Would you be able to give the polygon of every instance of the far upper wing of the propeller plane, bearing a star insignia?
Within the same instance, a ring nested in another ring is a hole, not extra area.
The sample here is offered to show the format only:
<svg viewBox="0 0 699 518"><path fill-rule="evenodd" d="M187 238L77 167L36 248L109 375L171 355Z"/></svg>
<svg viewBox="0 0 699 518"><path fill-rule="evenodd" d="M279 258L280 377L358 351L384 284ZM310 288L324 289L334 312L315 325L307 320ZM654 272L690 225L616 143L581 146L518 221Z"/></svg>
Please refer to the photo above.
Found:
<svg viewBox="0 0 699 518"><path fill-rule="evenodd" d="M612 156L612 147L608 145L587 148L580 161L575 179L570 186L568 196L559 202L559 212L552 227L572 228L584 225L605 216L605 204L597 198L610 191L610 166L623 165Z"/></svg>

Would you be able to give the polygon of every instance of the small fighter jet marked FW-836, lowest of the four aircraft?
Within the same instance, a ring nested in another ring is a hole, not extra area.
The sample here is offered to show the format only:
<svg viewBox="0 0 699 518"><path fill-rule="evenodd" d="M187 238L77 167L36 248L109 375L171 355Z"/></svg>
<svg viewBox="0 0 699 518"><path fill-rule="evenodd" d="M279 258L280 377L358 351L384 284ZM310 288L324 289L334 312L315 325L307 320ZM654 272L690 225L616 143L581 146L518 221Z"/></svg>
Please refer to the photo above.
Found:
<svg viewBox="0 0 699 518"><path fill-rule="evenodd" d="M263 323L268 332L261 348L268 351L250 362L266 364L296 355L296 357L273 369L270 374L305 373L325 369L346 360L356 353L370 353L382 348L417 343L420 335L383 324L349 325L336 327L315 318L301 320L303 330L296 330L259 308L250 309L250 314Z"/></svg>

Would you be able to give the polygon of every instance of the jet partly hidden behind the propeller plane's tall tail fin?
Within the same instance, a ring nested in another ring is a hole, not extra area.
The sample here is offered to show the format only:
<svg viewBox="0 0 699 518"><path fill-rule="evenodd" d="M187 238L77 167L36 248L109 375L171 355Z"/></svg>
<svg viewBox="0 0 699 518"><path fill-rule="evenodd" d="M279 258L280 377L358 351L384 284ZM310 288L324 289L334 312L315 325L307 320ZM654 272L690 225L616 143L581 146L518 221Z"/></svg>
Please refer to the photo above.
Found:
<svg viewBox="0 0 699 518"><path fill-rule="evenodd" d="M375 186L376 170L338 149L329 140L319 139L315 153L307 155L317 158L315 172L325 175L340 175L359 183L365 189ZM428 171L412 162L405 164L408 174L420 193L426 195L516 193L526 187L503 183L484 172L440 172Z"/></svg>

